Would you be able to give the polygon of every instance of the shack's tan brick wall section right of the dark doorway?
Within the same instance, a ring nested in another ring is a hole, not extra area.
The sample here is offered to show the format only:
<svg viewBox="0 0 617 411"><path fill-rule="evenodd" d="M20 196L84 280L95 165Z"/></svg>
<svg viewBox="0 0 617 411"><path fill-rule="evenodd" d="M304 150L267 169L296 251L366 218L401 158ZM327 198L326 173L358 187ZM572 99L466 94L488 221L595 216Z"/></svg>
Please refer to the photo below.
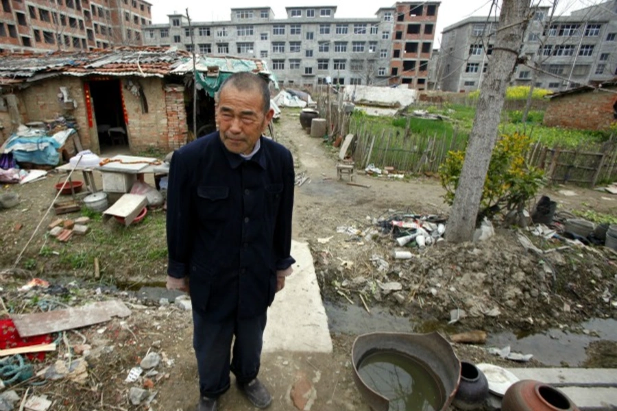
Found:
<svg viewBox="0 0 617 411"><path fill-rule="evenodd" d="M134 95L128 88L129 79L121 81L131 150L167 149L167 109L163 79L159 77L130 79L133 84L141 86L148 106L147 113L142 110L141 97Z"/></svg>

